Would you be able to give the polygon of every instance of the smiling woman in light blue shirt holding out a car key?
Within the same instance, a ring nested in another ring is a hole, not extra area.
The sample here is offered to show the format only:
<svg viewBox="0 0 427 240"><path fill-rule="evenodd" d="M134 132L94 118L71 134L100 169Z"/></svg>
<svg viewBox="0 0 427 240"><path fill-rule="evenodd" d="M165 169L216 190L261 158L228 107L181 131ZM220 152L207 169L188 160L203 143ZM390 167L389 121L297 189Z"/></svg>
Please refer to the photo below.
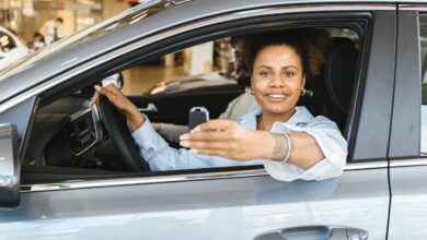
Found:
<svg viewBox="0 0 427 240"><path fill-rule="evenodd" d="M149 119L114 85L96 86L92 103L106 96L128 120L141 154L152 170L264 164L275 179L322 180L339 176L347 143L336 124L296 107L310 77L311 61L300 32L272 35L252 52L252 92L262 108L235 122L212 120L181 136L175 149L154 131ZM318 61L319 62L319 61Z"/></svg>

